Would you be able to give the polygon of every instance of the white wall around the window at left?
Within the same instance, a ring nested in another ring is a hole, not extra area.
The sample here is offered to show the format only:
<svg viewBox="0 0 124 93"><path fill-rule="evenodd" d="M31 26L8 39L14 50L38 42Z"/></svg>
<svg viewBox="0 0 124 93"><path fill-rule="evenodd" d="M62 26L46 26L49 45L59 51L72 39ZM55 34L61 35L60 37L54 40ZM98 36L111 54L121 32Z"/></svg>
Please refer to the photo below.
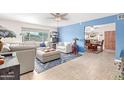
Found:
<svg viewBox="0 0 124 93"><path fill-rule="evenodd" d="M20 35L22 27L46 29L48 31L56 31L57 30L56 28L49 27L49 26L42 26L42 25L37 25L37 24L30 24L30 23L11 21L11 20L1 20L1 19L0 19L0 25L5 27L6 29L14 31L16 33L16 38L3 39L3 41L11 41L11 42L22 42L22 36Z"/></svg>

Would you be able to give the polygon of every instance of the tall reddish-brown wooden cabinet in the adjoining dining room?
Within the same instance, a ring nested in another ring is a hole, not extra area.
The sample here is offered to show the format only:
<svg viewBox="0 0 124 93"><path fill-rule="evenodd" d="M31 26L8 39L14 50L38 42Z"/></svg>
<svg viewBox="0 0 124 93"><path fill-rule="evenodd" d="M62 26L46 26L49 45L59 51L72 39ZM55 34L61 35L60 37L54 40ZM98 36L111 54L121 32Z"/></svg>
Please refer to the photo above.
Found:
<svg viewBox="0 0 124 93"><path fill-rule="evenodd" d="M115 50L115 31L105 32L105 49Z"/></svg>

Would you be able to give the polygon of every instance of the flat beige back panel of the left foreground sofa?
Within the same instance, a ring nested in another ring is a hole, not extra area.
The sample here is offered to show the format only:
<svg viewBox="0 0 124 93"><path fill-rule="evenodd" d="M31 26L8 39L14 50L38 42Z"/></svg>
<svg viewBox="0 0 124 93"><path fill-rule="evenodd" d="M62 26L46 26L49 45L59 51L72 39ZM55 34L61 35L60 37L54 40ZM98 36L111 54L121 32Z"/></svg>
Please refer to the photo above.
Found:
<svg viewBox="0 0 124 93"><path fill-rule="evenodd" d="M34 62L36 57L36 49L34 47L23 47L16 46L18 50L13 50L16 52L18 61L20 63L20 74L24 74L34 70ZM21 48L21 49L20 49Z"/></svg>

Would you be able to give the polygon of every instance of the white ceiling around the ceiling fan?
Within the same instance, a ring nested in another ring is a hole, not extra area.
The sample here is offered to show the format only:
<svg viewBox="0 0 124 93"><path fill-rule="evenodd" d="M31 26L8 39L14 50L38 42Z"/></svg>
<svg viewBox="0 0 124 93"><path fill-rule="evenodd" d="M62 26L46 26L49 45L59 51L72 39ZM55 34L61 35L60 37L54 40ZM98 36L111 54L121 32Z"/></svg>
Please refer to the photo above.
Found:
<svg viewBox="0 0 124 93"><path fill-rule="evenodd" d="M59 26L84 22L110 15L115 15L115 13L68 13L66 18L68 18L69 20L59 22ZM13 14L1 13L0 14L0 19L15 20L15 21L28 22L28 23L40 24L46 26L57 26L57 23L54 20L48 19L49 17L52 17L49 13L13 13Z"/></svg>

